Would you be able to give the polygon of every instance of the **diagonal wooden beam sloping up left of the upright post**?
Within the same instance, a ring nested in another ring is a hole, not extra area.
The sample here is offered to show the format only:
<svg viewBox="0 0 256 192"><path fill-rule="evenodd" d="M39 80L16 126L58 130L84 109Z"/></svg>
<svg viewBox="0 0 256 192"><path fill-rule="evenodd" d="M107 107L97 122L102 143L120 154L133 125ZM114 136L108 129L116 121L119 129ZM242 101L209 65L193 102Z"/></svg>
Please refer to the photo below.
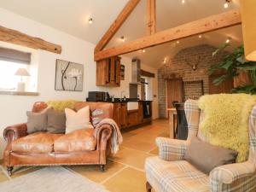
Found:
<svg viewBox="0 0 256 192"><path fill-rule="evenodd" d="M104 34L100 42L96 44L96 48L94 49L95 53L104 49L104 47L108 44L111 38L113 38L113 35L119 30L119 27L122 26L139 2L140 0L130 0L125 5L125 8L121 11L116 20L114 20L113 24L108 28L108 31Z"/></svg>

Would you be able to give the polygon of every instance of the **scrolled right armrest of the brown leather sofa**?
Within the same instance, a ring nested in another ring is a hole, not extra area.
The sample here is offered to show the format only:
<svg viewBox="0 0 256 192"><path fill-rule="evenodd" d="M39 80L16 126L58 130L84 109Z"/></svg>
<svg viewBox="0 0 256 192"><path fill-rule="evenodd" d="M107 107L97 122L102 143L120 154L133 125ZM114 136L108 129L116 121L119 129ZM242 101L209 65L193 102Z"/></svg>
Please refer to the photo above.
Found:
<svg viewBox="0 0 256 192"><path fill-rule="evenodd" d="M106 150L108 139L112 134L112 126L109 124L97 125L94 131L97 150Z"/></svg>

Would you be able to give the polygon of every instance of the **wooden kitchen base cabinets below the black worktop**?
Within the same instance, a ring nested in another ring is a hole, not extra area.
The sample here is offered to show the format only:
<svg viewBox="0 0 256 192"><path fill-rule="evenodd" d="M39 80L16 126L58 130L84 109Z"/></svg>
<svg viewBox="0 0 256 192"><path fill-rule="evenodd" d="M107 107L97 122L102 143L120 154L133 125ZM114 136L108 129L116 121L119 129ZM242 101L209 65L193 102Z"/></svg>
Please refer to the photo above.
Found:
<svg viewBox="0 0 256 192"><path fill-rule="evenodd" d="M149 110L152 113L151 102ZM151 117L144 118L143 101L138 102L138 109L136 110L127 110L127 102L113 102L113 119L120 129L150 123L152 120Z"/></svg>

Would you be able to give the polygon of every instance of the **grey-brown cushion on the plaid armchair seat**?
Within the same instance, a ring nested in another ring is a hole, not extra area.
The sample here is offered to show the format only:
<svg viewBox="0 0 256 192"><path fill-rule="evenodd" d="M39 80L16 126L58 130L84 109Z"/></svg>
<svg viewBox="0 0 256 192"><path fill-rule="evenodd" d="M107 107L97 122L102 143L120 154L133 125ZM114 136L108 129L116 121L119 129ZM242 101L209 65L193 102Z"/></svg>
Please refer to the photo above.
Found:
<svg viewBox="0 0 256 192"><path fill-rule="evenodd" d="M185 160L201 172L209 174L217 166L235 163L236 156L236 151L213 146L198 137L193 137L186 151Z"/></svg>

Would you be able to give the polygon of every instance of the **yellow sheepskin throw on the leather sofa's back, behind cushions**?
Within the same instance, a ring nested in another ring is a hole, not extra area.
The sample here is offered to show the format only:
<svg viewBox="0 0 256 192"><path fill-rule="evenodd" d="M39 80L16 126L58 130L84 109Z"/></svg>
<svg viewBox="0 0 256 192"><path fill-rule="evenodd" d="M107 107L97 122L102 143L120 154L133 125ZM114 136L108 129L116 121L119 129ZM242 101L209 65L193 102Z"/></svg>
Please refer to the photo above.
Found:
<svg viewBox="0 0 256 192"><path fill-rule="evenodd" d="M78 101L75 101L75 100L61 100L61 101L49 101L49 102L46 102L46 104L49 107L54 108L56 111L64 112L65 108L74 109L74 106L77 102Z"/></svg>

